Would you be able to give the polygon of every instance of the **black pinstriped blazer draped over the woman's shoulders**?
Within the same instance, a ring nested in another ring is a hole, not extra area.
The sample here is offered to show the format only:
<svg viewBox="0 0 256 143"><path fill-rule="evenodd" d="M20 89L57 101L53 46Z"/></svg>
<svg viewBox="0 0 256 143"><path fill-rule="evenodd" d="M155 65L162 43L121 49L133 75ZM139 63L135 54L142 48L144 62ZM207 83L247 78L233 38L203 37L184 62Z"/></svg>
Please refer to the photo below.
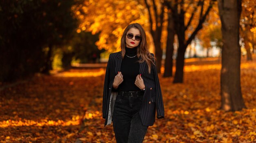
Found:
<svg viewBox="0 0 256 143"><path fill-rule="evenodd" d="M154 56L153 53L151 55ZM105 119L104 126L110 125L112 121L113 106L115 104L115 96L117 95L117 92L112 91L112 85L115 76L121 69L121 63L121 51L110 54L103 89L102 116ZM144 126L153 126L156 111L158 119L164 118L164 104L157 69L154 65L151 66L149 74L148 65L144 61L139 63L139 74L141 74L146 87L139 115Z"/></svg>

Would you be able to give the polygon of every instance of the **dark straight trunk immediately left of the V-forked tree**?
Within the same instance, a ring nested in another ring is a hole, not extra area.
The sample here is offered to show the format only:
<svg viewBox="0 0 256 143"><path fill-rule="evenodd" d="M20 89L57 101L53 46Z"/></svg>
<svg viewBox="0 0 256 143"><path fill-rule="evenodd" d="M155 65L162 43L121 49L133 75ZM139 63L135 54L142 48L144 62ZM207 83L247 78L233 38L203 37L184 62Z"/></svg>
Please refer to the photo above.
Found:
<svg viewBox="0 0 256 143"><path fill-rule="evenodd" d="M174 42L174 22L173 17L170 13L168 13L168 35L166 42L166 58L164 62L164 77L173 76L173 42Z"/></svg>

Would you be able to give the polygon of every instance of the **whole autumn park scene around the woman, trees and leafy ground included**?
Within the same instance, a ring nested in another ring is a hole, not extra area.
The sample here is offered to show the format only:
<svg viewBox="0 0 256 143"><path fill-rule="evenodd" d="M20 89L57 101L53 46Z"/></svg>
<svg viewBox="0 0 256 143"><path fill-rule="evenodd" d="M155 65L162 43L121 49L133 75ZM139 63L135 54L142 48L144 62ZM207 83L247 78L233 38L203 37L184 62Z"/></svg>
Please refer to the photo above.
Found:
<svg viewBox="0 0 256 143"><path fill-rule="evenodd" d="M145 143L256 142L256 0L0 0L0 142L115 142L103 84L135 22L165 108Z"/></svg>

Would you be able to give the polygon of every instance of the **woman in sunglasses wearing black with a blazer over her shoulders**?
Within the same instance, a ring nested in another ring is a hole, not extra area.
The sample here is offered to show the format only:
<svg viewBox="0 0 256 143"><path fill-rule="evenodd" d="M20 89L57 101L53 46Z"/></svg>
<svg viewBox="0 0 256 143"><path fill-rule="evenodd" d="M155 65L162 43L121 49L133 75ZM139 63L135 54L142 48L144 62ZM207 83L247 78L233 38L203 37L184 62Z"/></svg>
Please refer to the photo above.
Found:
<svg viewBox="0 0 256 143"><path fill-rule="evenodd" d="M142 143L148 126L164 118L162 92L154 54L146 33L130 24L121 37L121 51L111 53L106 69L102 113L105 126L113 122L117 143Z"/></svg>

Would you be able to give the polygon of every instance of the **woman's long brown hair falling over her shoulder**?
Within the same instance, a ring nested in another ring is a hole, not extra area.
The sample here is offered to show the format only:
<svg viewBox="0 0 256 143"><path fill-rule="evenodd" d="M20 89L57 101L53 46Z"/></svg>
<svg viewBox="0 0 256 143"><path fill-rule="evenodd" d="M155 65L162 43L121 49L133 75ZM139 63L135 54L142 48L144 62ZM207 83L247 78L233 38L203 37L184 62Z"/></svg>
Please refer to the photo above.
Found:
<svg viewBox="0 0 256 143"><path fill-rule="evenodd" d="M138 23L130 24L124 30L124 33L123 33L123 35L121 37L122 59L124 59L124 54L126 52L125 51L125 47L126 47L126 41L125 41L126 40L126 33L128 32L128 30L130 30L130 28L137 28L139 30L139 32L140 32L141 41L139 42L139 45L138 45L138 48L137 48L137 56L138 56L138 58L141 57L141 59L138 62L139 63L143 63L144 61L146 61L147 65L148 65L148 73L150 74L151 64L155 65L154 61L156 60L156 58L150 54L150 52L148 50L147 41L146 41L145 30Z"/></svg>

